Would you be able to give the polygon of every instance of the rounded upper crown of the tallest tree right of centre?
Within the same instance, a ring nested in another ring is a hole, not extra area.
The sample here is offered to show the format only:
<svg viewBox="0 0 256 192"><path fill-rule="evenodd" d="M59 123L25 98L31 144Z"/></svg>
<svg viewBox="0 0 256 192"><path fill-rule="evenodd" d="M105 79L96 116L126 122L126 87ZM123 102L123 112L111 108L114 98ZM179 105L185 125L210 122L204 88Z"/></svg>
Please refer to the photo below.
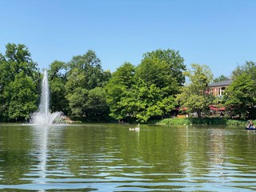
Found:
<svg viewBox="0 0 256 192"><path fill-rule="evenodd" d="M154 84L165 90L166 96L178 94L179 88L185 82L182 72L186 70L178 51L155 50L143 54L143 57L136 70L137 79L142 78L147 86Z"/></svg>

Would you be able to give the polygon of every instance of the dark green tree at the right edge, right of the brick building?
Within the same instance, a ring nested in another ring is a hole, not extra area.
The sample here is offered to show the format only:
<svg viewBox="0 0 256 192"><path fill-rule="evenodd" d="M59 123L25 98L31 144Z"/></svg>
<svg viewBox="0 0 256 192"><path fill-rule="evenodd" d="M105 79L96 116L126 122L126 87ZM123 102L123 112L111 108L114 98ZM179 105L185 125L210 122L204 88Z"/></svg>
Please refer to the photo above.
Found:
<svg viewBox="0 0 256 192"><path fill-rule="evenodd" d="M231 115L239 118L256 118L256 90L255 81L250 74L237 76L225 91L224 105Z"/></svg>

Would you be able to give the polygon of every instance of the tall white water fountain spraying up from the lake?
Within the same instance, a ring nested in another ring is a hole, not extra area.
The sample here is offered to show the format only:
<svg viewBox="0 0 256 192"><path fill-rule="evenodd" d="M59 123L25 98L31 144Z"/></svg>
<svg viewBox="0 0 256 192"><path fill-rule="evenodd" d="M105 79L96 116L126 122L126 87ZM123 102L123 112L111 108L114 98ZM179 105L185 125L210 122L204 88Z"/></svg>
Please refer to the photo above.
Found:
<svg viewBox="0 0 256 192"><path fill-rule="evenodd" d="M51 125L58 124L63 121L62 112L50 113L50 94L48 85L48 74L47 70L44 70L42 78L42 94L40 99L39 111L31 115L30 123L35 125Z"/></svg>

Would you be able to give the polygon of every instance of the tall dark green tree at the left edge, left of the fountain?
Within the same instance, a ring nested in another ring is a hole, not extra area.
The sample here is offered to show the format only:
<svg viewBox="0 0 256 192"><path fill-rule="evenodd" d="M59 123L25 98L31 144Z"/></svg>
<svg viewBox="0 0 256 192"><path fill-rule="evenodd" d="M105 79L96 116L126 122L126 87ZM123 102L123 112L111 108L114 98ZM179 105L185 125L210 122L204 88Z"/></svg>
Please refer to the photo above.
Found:
<svg viewBox="0 0 256 192"><path fill-rule="evenodd" d="M0 54L0 114L10 121L22 121L36 109L39 75L24 45L8 43Z"/></svg>

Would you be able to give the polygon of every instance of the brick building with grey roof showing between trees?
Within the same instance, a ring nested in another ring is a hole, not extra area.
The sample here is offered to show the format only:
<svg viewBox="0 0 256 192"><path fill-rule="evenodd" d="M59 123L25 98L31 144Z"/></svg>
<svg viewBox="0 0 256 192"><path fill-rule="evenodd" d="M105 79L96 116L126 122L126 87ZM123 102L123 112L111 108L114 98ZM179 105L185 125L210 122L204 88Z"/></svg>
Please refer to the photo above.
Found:
<svg viewBox="0 0 256 192"><path fill-rule="evenodd" d="M222 98L222 95L224 94L226 88L230 86L230 83L232 82L231 79L222 81L222 82L213 82L211 83L209 87L210 94L214 95L215 97Z"/></svg>

